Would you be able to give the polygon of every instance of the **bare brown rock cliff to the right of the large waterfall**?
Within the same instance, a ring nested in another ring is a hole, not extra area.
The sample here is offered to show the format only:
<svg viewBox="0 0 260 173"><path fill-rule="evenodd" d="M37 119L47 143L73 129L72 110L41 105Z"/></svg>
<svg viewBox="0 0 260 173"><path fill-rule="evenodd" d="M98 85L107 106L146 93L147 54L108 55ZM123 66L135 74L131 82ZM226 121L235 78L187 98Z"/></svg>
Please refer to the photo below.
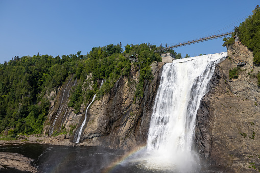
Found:
<svg viewBox="0 0 260 173"><path fill-rule="evenodd" d="M203 158L202 171L258 172L260 89L256 75L260 68L251 67L253 54L242 44L229 45L227 51L228 58L217 65L210 91L197 112L195 146ZM246 65L238 79L229 79L229 70L241 60Z"/></svg>

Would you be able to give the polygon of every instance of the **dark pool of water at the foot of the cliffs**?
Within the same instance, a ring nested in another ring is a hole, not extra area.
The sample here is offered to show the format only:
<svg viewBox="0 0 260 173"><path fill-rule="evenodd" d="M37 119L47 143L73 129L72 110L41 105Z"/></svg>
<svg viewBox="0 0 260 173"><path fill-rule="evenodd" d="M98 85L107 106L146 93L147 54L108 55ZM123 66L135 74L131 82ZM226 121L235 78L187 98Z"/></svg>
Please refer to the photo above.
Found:
<svg viewBox="0 0 260 173"><path fill-rule="evenodd" d="M0 145L0 152L12 152L33 159L32 165L39 172L161 172L148 170L138 163L117 164L111 170L106 168L122 158L123 150L102 147L69 147L41 144ZM15 169L0 169L0 172L21 172Z"/></svg>

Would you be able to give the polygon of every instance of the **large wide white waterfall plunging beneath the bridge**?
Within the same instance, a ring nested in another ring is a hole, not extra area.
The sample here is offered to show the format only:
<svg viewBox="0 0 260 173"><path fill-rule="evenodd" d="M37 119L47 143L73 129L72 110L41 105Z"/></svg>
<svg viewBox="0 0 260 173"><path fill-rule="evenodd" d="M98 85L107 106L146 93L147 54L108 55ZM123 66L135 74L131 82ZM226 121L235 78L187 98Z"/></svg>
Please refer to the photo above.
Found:
<svg viewBox="0 0 260 173"><path fill-rule="evenodd" d="M226 56L223 52L184 58L163 66L148 133L148 167L194 170L189 167L198 164L198 159L193 162L198 158L193 153L197 110L215 65Z"/></svg>

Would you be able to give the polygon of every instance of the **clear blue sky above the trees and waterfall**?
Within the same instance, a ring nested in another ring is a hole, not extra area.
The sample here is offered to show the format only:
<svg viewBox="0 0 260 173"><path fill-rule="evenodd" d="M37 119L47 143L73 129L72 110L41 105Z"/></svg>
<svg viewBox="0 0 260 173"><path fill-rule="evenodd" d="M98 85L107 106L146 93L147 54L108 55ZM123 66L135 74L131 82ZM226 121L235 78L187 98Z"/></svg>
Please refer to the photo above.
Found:
<svg viewBox="0 0 260 173"><path fill-rule="evenodd" d="M168 46L232 31L259 0L0 0L0 63L26 55L76 54L122 43ZM239 21L239 22L238 22ZM237 22L237 23L236 23ZM226 51L222 38L176 48L191 56Z"/></svg>

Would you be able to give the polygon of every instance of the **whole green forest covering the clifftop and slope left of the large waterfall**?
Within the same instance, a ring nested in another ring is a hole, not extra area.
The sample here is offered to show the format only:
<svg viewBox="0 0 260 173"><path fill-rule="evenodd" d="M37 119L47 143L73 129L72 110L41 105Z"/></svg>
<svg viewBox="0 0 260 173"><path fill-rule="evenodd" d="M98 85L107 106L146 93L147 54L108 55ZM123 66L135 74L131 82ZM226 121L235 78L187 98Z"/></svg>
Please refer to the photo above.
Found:
<svg viewBox="0 0 260 173"><path fill-rule="evenodd" d="M82 103L88 103L97 93L97 98L110 92L120 76L129 76L130 55L138 55L133 63L140 71L136 84L136 98L143 96L145 80L153 78L150 65L161 61L156 47L151 44L126 45L123 52L121 43L94 47L87 55L77 54L53 57L50 55L18 56L9 62L0 64L0 132L9 129L10 135L40 134L50 107L51 91L64 84L71 75L77 80L72 88L69 106L76 113ZM174 52L174 51L173 51ZM175 53L175 52L174 52ZM175 53L176 54L176 53ZM91 86L84 81L90 76ZM101 89L98 81L106 79ZM84 88L84 89L82 89Z"/></svg>

